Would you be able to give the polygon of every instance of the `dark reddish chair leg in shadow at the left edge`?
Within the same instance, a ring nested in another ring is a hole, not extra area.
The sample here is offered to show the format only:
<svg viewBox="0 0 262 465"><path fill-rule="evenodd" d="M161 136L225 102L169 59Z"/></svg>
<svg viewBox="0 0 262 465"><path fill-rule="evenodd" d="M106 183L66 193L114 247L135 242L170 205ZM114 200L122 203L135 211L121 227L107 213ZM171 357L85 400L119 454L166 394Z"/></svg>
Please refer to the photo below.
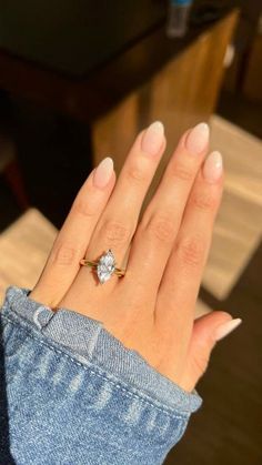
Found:
<svg viewBox="0 0 262 465"><path fill-rule="evenodd" d="M22 210L27 210L30 206L30 203L26 192L22 174L16 159L6 166L4 176L17 199L19 206Z"/></svg>

